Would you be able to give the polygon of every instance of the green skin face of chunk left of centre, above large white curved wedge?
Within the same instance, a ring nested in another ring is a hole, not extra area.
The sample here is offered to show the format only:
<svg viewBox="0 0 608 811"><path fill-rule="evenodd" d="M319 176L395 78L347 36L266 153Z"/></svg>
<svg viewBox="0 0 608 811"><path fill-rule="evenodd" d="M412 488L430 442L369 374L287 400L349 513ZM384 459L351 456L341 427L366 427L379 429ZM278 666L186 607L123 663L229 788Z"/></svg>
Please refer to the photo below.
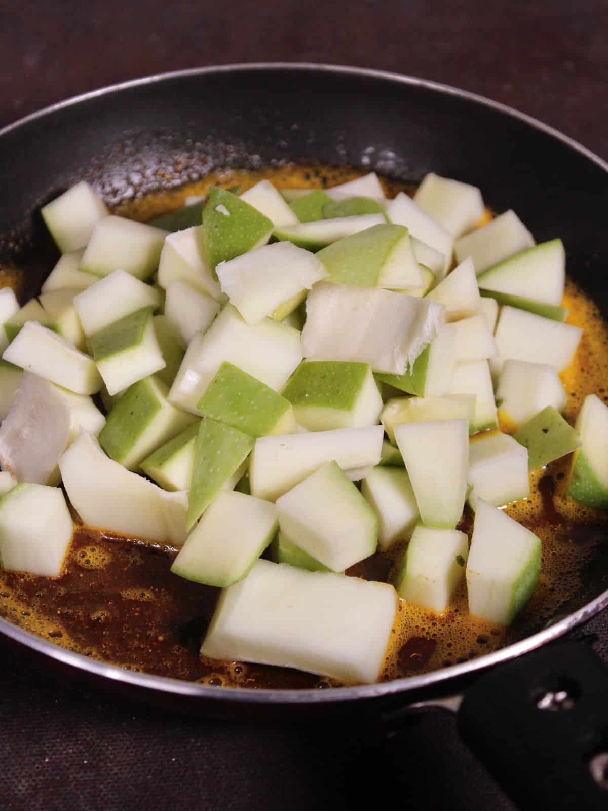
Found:
<svg viewBox="0 0 608 811"><path fill-rule="evenodd" d="M131 453L161 407L147 378L126 389L109 411L99 435L99 443L110 459L120 462Z"/></svg>

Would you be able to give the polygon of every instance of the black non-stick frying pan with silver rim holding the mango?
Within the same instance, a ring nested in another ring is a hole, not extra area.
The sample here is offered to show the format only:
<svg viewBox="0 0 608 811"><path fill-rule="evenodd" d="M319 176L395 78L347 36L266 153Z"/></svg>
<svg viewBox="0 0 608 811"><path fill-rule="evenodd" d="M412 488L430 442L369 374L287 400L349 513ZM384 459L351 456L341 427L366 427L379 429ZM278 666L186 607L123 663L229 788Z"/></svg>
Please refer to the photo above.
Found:
<svg viewBox="0 0 608 811"><path fill-rule="evenodd" d="M0 131L0 259L28 264L36 212L88 179L109 204L178 187L212 167L352 164L418 182L428 171L514 208L538 242L559 234L568 271L608 317L608 165L540 122L470 93L405 76L311 64L250 64L152 76L54 105ZM38 280L32 271L32 291ZM0 620L9 641L71 672L212 714L358 713L389 719L433 702L521 805L605 808L608 693L593 653L527 654L608 605L606 543L584 586L542 629L423 676L329 690L217 689L86 659ZM509 661L510 660L510 661ZM479 672L491 668L489 674ZM447 698L446 698L447 697Z"/></svg>

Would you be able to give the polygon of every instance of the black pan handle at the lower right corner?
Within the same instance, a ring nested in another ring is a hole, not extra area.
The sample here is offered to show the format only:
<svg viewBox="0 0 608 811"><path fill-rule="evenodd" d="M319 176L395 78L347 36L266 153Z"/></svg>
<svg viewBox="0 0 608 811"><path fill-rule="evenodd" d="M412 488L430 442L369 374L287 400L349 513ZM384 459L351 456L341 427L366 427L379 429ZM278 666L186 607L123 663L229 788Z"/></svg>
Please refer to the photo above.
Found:
<svg viewBox="0 0 608 811"><path fill-rule="evenodd" d="M522 811L608 809L608 668L588 645L496 667L465 693L458 725Z"/></svg>

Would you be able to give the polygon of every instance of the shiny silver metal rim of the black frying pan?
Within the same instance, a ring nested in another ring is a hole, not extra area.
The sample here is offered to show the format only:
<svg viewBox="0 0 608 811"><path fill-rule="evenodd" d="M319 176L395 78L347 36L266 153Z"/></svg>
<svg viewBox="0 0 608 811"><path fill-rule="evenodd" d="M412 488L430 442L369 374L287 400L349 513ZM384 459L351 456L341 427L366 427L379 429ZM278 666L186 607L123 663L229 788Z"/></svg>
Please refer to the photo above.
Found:
<svg viewBox="0 0 608 811"><path fill-rule="evenodd" d="M324 63L315 64L314 62L250 62L238 63L229 65L218 65L211 67L191 68L185 71L171 71L168 73L161 73L151 76L143 77L142 79L131 79L119 84L111 84L108 87L93 90L91 92L82 93L79 96L71 97L66 101L59 101L54 105L49 105L36 113L29 114L24 118L3 127L0 130L0 139L4 135L8 135L15 129L24 126L29 122L34 122L38 118L43 118L46 115L54 114L59 110L77 105L83 101L90 101L97 97L105 96L113 92L120 92L130 88L136 88L141 85L155 84L165 81L167 79L178 79L183 76L196 76L207 75L213 73L228 73L233 71L269 71L269 70L296 70L296 71L321 71L328 73L342 73L347 75L370 76L377 79L387 79L398 84L408 84L412 86L419 86L429 90L447 93L451 96L460 97L468 101L473 101L477 104L490 107L491 109L498 110L500 113L519 118L529 124L534 129L545 132L555 139L567 144L576 152L588 158L589 161L600 166L608 173L608 162L604 161L601 157L591 152L588 148L578 143L575 139L570 138L568 135L563 135L562 132L550 127L548 124L539 121L525 113L521 113L507 105L503 105L498 101L492 101L477 93L454 88L448 84L441 84L439 82L432 82L427 79L419 79L415 76L406 76L391 71L377 71L370 68L360 67L346 67L340 65L328 65ZM440 670L426 673L422 676L409 676L404 679L396 679L392 681L383 682L380 684L365 684L356 687L342 687L337 689L305 689L305 690L259 690L247 688L226 688L226 687L211 687L206 684L198 684L195 682L182 681L178 679L169 679L165 676L151 676L147 673L136 673L127 671L122 667L112 664L106 664L97 659L89 659L82 654L75 653L74 651L67 650L54 644L53 642L46 642L42 637L37 637L35 634L30 633L16 625L11 624L7 620L0 618L0 633L6 637L10 637L15 642L19 642L24 646L36 651L36 653L49 656L51 659L59 663L76 667L81 671L88 672L92 676L99 676L109 680L119 681L124 684L130 684L135 688L152 689L160 691L161 693L169 693L176 696L200 698L201 700L212 699L214 702L228 702L230 704L325 704L335 702L350 702L361 699L379 699L392 696L396 693L404 693L415 690L422 690L432 685L438 685L449 679L455 679L459 676L466 676L471 673L485 669L486 667L493 667L508 659L515 659L528 653L531 650L563 636L564 633L572 630L589 620L592 616L602 611L603 608L608 607L608 590L600 594L597 598L587 603L584 607L575 611L571 615L564 617L549 628L533 634L520 642L516 642L510 646L496 650L494 653L486 654L479 659L472 659L469 662L452 665L452 667L444 667Z"/></svg>

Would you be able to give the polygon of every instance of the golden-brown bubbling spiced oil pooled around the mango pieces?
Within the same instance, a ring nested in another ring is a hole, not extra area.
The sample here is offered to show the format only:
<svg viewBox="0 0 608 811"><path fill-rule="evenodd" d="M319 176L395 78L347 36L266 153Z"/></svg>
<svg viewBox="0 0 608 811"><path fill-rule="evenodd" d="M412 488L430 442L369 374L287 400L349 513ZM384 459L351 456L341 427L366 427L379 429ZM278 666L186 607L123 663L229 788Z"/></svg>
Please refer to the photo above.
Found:
<svg viewBox="0 0 608 811"><path fill-rule="evenodd" d="M255 173L230 169L175 191L131 201L115 213L147 221L179 208L187 195L203 194L213 184L245 191L268 178L280 188L312 189L359 174L348 167L320 165L288 165ZM411 191L402 183L384 180L383 184L388 196ZM479 225L490 216L486 212ZM0 272L0 286L17 283L19 274L11 268ZM587 394L597 393L608 401L608 328L597 307L572 281L567 281L564 304L570 311L568 322L584 329L576 358L562 375L569 394L565 417L572 423ZM580 590L581 573L593 559L597 543L603 542L608 519L567 500L568 464L565 458L531 474L532 496L506 508L542 540L537 590L512 628L472 620L464 581L441 615L400 600L383 679L429 672L495 650L541 627ZM469 513L459 526L470 535ZM349 573L390 579L404 548L405 544L398 544L389 555L376 554ZM337 685L283 668L199 659L200 638L212 616L217 590L170 573L174 555L169 547L78 527L62 577L53 580L0 571L0 616L71 650L134 671L255 688Z"/></svg>

